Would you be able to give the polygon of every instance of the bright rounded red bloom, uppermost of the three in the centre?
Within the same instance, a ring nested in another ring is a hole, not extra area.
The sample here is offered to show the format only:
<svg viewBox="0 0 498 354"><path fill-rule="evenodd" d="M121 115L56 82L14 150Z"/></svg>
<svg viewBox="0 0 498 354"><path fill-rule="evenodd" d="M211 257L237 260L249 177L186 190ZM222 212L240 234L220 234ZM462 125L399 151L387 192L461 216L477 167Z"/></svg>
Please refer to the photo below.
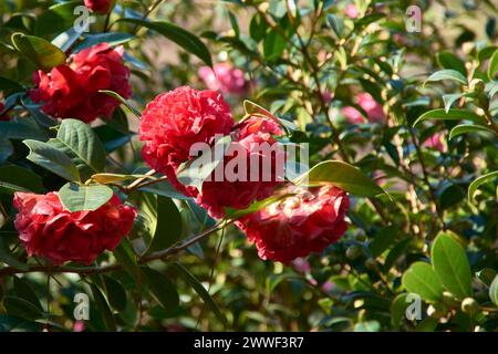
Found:
<svg viewBox="0 0 498 354"><path fill-rule="evenodd" d="M211 145L216 134L227 135L234 124L230 107L219 92L181 86L162 93L142 114L142 156L179 191L190 196L195 188L186 188L176 179L178 166L189 159L195 143Z"/></svg>

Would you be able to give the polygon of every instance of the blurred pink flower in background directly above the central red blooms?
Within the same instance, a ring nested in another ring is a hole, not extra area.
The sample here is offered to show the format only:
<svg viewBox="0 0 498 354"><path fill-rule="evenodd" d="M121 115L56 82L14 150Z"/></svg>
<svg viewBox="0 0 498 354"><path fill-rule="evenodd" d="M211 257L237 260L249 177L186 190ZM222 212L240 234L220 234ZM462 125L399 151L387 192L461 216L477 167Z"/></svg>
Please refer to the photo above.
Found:
<svg viewBox="0 0 498 354"><path fill-rule="evenodd" d="M228 63L215 64L212 69L201 66L198 74L209 90L243 94L248 88L243 72Z"/></svg>

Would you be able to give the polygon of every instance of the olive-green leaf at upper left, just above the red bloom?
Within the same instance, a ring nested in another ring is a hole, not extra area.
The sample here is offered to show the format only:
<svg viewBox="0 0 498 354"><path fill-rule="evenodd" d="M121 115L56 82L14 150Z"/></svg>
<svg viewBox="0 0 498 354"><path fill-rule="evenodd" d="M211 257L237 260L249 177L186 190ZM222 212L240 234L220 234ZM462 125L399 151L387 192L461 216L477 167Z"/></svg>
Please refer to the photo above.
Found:
<svg viewBox="0 0 498 354"><path fill-rule="evenodd" d="M44 71L64 64L66 60L63 51L39 37L13 33L12 44L37 67Z"/></svg>

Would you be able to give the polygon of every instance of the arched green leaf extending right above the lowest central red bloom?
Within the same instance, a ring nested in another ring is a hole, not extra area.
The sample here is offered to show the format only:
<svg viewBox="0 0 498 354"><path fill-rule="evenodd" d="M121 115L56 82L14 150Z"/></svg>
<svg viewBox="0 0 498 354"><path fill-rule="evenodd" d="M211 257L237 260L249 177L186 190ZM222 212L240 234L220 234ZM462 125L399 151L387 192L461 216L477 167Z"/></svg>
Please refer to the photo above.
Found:
<svg viewBox="0 0 498 354"><path fill-rule="evenodd" d="M375 197L386 194L359 168L340 160L320 163L299 177L295 183L302 184L305 180L309 184L331 184L359 197Z"/></svg>

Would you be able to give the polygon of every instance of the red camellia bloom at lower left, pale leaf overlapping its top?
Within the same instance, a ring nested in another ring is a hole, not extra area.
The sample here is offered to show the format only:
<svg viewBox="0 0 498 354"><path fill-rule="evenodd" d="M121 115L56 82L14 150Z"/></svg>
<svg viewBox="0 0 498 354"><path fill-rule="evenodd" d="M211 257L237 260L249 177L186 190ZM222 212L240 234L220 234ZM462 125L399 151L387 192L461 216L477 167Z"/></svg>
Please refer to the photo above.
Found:
<svg viewBox="0 0 498 354"><path fill-rule="evenodd" d="M52 264L66 261L91 264L104 250L114 250L129 233L136 210L113 198L94 211L70 212L56 192L17 192L14 226L29 256Z"/></svg>

